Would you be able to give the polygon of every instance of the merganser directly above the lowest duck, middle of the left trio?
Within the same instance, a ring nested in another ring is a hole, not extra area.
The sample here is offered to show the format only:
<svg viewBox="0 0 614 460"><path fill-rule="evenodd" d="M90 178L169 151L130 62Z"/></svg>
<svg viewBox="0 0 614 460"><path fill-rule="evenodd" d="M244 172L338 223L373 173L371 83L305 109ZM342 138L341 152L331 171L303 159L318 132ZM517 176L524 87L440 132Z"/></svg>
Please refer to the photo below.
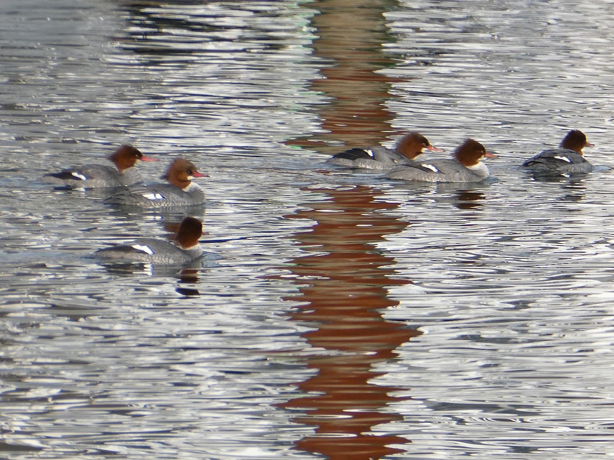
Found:
<svg viewBox="0 0 614 460"><path fill-rule="evenodd" d="M161 178L169 183L135 185L119 190L105 201L112 204L146 208L193 206L204 204L204 190L192 182L195 177L209 177L196 171L184 158L176 158Z"/></svg>

